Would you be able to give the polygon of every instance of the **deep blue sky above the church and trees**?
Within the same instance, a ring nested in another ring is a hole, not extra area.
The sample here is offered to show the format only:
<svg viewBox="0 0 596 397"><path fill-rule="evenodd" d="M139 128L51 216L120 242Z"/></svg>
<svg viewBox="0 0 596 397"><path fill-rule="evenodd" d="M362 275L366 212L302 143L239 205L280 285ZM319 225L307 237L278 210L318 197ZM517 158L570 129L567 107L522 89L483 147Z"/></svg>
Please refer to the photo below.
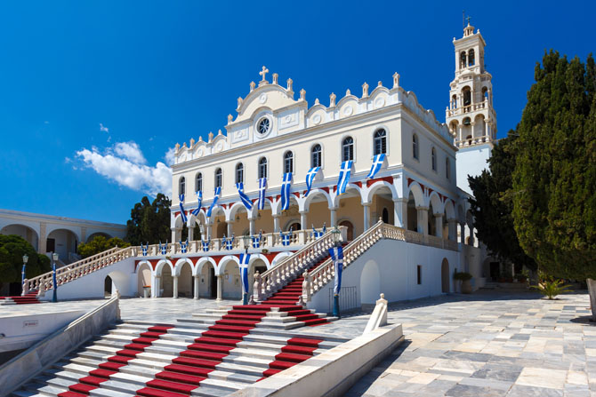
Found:
<svg viewBox="0 0 596 397"><path fill-rule="evenodd" d="M224 130L262 65L310 105L397 71L444 122L462 10L487 41L503 137L545 49L596 50L595 4L4 2L0 208L125 223L169 188L168 149Z"/></svg>

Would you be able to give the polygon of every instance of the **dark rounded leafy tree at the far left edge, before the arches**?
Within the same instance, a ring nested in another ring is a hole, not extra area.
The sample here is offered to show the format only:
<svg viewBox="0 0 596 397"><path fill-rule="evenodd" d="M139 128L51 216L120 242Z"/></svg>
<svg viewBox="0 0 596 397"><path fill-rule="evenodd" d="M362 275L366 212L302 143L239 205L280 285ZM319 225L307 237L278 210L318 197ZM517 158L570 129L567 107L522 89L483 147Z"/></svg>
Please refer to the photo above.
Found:
<svg viewBox="0 0 596 397"><path fill-rule="evenodd" d="M29 257L25 271L25 276L28 279L52 270L50 258L38 254L27 240L16 234L0 234L0 283L20 283L20 272L25 254Z"/></svg>

